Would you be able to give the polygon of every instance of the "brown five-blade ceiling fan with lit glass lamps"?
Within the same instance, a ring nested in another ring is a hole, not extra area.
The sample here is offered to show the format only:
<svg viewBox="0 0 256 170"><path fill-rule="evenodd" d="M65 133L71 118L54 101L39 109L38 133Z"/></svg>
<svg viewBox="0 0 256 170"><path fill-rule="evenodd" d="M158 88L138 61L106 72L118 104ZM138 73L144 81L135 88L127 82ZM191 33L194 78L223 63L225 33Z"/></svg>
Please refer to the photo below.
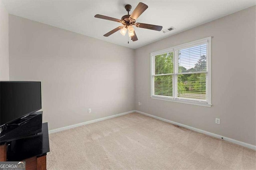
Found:
<svg viewBox="0 0 256 170"><path fill-rule="evenodd" d="M120 33L123 36L125 36L125 34L128 30L128 36L131 37L131 40L132 41L137 41L138 38L136 36L136 33L134 31L133 26L136 26L138 28L146 28L146 29L150 29L150 30L156 30L156 31L161 31L162 30L162 28L163 28L162 26L136 23L137 18L148 8L148 6L146 4L143 4L142 2L140 2L136 6L136 8L134 9L134 11L132 12L131 15L129 15L129 12L132 9L132 6L127 4L124 8L128 12L128 15L122 16L121 20L116 19L116 18L112 18L112 17L108 17L108 16L104 16L104 15L100 15L100 14L97 14L97 15L94 16L95 18L101 18L101 19L104 19L104 20L120 22L121 24L123 24L122 26L119 26L119 27L115 28L114 30L111 30L110 32L104 34L105 37L108 37L108 36L114 34L118 30L120 30Z"/></svg>

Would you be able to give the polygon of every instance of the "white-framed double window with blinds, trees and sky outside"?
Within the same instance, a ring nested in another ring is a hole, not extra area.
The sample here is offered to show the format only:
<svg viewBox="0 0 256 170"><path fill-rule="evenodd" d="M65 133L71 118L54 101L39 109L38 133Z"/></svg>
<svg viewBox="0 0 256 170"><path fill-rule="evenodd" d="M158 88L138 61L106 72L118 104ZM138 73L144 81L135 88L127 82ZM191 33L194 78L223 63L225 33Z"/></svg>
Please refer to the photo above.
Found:
<svg viewBox="0 0 256 170"><path fill-rule="evenodd" d="M211 106L211 37L151 53L151 98Z"/></svg>

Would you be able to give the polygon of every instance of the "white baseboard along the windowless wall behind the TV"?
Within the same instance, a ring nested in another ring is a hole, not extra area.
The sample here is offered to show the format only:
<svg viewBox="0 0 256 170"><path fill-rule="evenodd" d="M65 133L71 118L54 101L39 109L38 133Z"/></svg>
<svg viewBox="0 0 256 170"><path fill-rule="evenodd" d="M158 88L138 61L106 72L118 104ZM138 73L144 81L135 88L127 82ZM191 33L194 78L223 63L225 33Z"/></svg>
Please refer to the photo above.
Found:
<svg viewBox="0 0 256 170"><path fill-rule="evenodd" d="M83 126L83 125L88 125L88 124L95 123L95 122L99 122L99 121L104 121L104 120L106 120L106 119L111 119L111 118L114 118L114 117L126 115L126 114L129 114L129 113L134 113L134 112L135 112L135 111L129 111L129 112L124 112L124 113L119 113L119 114L117 114L117 115L112 115L112 116L108 116L108 117L103 117L103 118L100 118L100 119L95 119L95 120L92 120L92 121L87 121L87 122L83 122L83 123L78 123L78 124L70 125L70 126L67 126L67 127L56 128L56 129L53 129L53 130L49 130L49 134L51 134L51 133L56 133L56 132L60 132L60 131L62 131L62 130L67 130L67 129L70 129L70 128L75 128L75 127L80 127L80 126Z"/></svg>

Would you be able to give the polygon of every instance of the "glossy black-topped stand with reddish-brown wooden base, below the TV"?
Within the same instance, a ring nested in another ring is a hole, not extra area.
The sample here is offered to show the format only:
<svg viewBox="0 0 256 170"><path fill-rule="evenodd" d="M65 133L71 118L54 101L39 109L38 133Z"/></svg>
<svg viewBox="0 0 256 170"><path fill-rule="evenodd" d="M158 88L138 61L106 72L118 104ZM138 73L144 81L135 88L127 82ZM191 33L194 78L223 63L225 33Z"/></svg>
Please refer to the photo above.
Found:
<svg viewBox="0 0 256 170"><path fill-rule="evenodd" d="M0 142L0 161L26 161L26 169L46 170L46 154L50 152L48 123L42 124L42 132Z"/></svg>

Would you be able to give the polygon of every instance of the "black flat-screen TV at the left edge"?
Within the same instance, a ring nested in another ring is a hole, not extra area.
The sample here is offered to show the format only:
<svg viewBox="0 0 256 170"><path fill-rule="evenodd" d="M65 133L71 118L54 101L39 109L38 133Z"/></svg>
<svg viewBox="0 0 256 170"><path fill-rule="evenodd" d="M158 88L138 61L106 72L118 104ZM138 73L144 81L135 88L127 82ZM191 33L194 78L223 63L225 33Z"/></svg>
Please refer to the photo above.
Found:
<svg viewBox="0 0 256 170"><path fill-rule="evenodd" d="M41 82L0 81L0 126L40 109Z"/></svg>

